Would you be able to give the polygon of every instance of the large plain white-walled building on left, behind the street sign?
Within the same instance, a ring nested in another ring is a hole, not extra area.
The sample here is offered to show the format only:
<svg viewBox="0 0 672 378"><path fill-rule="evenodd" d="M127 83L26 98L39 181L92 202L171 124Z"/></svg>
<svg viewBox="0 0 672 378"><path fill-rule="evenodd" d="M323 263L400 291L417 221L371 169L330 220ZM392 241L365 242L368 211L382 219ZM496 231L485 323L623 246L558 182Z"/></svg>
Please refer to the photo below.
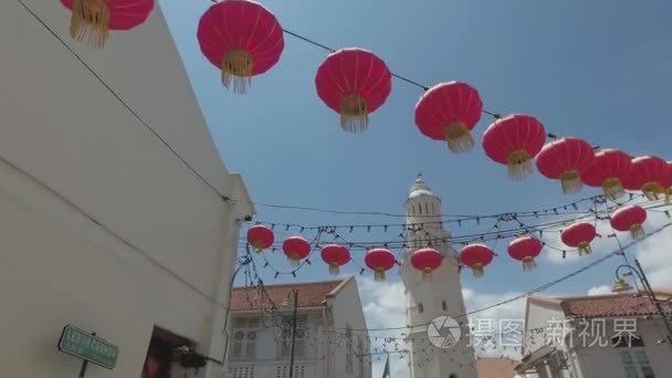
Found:
<svg viewBox="0 0 672 378"><path fill-rule="evenodd" d="M86 378L139 378L153 336L154 359L189 344L221 361L254 209L160 8L95 51L71 39L60 1L0 1L0 376L76 377L82 360L56 348L69 324L118 347L114 369L90 364Z"/></svg>

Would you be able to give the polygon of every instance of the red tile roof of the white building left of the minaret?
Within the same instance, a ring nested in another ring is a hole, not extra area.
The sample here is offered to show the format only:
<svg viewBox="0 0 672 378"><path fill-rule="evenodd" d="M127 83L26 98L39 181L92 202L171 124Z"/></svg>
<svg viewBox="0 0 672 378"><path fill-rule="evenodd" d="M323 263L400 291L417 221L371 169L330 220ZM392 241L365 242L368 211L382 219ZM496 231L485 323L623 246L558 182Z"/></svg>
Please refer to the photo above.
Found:
<svg viewBox="0 0 672 378"><path fill-rule="evenodd" d="M272 301L276 306L287 297L292 288L298 291L298 307L321 306L329 294L335 293L351 277L340 281L306 282L295 284L264 285L267 293L258 293L256 290L234 287L231 293L231 311L245 311L269 308Z"/></svg>

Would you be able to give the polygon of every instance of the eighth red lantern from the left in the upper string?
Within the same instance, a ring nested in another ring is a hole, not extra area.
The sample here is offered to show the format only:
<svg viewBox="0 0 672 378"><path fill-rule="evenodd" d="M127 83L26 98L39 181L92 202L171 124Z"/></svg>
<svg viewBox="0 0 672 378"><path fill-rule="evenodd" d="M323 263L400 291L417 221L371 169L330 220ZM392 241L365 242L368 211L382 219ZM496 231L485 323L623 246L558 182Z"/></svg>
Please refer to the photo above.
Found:
<svg viewBox="0 0 672 378"><path fill-rule="evenodd" d="M668 175L668 162L655 156L641 156L632 159L630 170L623 179L628 190L641 190L651 201L665 192L663 183Z"/></svg>

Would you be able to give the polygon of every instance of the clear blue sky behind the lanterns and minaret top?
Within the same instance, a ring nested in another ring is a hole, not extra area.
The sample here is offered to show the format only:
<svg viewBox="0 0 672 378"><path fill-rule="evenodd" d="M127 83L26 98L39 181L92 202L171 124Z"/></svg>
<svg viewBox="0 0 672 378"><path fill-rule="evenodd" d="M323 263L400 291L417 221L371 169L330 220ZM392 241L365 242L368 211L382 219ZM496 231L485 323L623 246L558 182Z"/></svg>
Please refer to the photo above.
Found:
<svg viewBox="0 0 672 378"><path fill-rule="evenodd" d="M468 82L490 111L532 114L556 135L672 159L669 2L262 2L283 28L336 49L371 50L391 71L418 82ZM490 161L480 146L469 155L450 154L443 144L418 132L413 108L422 92L398 80L366 133L342 132L338 115L319 101L314 85L327 52L291 35L285 34L280 63L255 77L246 95L234 95L221 86L219 71L206 61L196 40L198 20L210 2L160 3L222 158L230 170L243 175L256 202L402 213L419 170L442 197L444 213L517 211L598 193L587 189L565 196L558 182L538 174L511 181L505 168ZM479 143L490 122L483 117L476 127ZM307 225L400 220L264 207L258 212L259 220ZM381 231L357 235L372 241L395 237ZM519 274L519 265L504 250L498 252L484 279L465 274L463 284L495 297L523 292L599 255L564 263L543 258L536 272ZM282 259L273 261L279 269L286 267ZM584 294L609 283L616 263L558 286L557 293ZM325 277L326 269L317 263L302 270L296 280ZM294 279L277 281L283 280ZM273 282L271 274L266 281Z"/></svg>

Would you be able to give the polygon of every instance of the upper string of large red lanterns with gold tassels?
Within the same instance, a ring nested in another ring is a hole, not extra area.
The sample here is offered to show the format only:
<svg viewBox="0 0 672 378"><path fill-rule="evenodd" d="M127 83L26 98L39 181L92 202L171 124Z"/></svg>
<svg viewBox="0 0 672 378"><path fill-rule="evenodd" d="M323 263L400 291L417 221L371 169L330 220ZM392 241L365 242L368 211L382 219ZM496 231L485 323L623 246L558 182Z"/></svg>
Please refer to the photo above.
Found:
<svg viewBox="0 0 672 378"><path fill-rule="evenodd" d="M130 30L147 20L154 0L61 0L71 10L71 35L95 48L103 48L111 30ZM252 0L222 0L201 17L197 38L206 59L221 70L221 81L234 93L245 93L252 76L271 70L284 50L283 28L275 15ZM330 50L330 49L329 49ZM369 115L385 104L391 92L386 63L372 52L349 48L333 51L315 76L317 95L340 114L346 132L364 132ZM424 86L423 86L424 87ZM466 83L438 84L416 105L416 124L430 139L444 140L453 153L473 148L472 130L479 123L483 102ZM641 190L648 198L672 193L672 164L659 157L631 158L617 149L588 151L578 138L546 143L544 125L531 115L513 114L497 118L483 134L482 146L489 158L506 165L513 179L533 171L559 179L563 191L577 192L582 183L601 187L609 199L624 189Z"/></svg>

